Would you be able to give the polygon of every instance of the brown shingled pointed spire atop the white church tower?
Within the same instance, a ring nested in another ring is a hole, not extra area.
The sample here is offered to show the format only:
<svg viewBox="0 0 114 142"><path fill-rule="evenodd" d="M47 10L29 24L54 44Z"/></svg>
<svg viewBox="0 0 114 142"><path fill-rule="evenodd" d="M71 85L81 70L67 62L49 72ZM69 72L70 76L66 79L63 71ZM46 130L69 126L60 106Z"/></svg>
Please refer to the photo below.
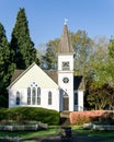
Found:
<svg viewBox="0 0 114 142"><path fill-rule="evenodd" d="M68 54L68 52L73 52L73 49L69 38L68 26L67 23L65 23L58 48L58 54Z"/></svg>

